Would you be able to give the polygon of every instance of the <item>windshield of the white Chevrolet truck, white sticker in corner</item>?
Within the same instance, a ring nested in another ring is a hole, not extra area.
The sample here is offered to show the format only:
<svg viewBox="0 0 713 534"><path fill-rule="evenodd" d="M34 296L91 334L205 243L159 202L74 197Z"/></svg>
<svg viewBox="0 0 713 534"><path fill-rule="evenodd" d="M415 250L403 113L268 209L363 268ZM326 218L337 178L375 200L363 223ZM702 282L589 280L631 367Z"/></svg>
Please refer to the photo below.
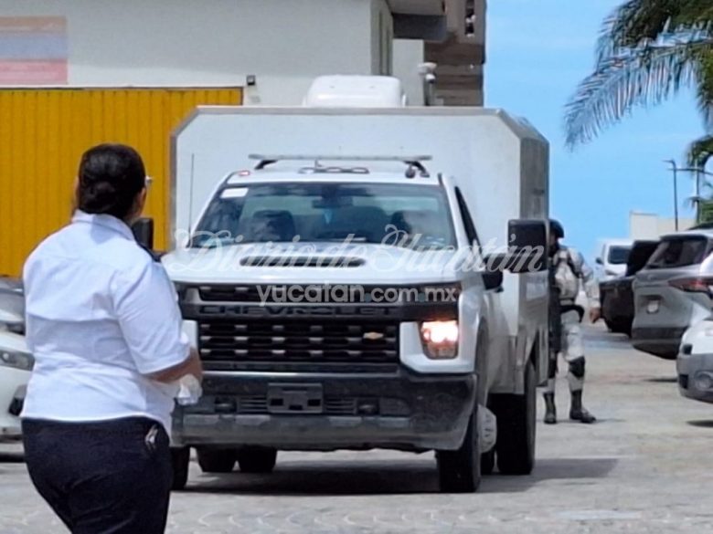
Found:
<svg viewBox="0 0 713 534"><path fill-rule="evenodd" d="M191 246L347 239L413 248L455 243L446 196L435 186L261 183L218 191Z"/></svg>

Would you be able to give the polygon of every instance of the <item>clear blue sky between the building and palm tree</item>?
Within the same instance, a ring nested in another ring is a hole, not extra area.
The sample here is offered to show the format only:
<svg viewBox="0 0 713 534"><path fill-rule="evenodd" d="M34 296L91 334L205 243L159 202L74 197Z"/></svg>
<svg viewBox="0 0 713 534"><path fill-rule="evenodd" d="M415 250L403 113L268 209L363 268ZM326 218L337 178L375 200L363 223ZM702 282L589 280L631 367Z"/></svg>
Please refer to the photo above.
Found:
<svg viewBox="0 0 713 534"><path fill-rule="evenodd" d="M665 159L683 163L703 134L691 93L637 109L574 152L564 105L594 65L601 22L623 0L489 0L485 104L527 118L550 142L550 211L570 246L591 259L597 239L629 235L630 211L673 216ZM693 194L679 179L679 199ZM681 216L690 209L681 204Z"/></svg>

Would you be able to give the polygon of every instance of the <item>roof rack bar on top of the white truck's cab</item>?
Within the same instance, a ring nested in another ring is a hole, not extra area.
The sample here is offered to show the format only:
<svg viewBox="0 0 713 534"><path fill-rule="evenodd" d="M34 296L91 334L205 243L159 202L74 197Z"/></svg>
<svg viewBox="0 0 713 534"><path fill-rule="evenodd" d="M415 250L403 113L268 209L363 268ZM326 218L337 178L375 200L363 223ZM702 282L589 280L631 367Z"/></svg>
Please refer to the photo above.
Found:
<svg viewBox="0 0 713 534"><path fill-rule="evenodd" d="M276 162L292 161L292 162L314 162L314 167L303 168L302 172L311 173L368 173L365 167L335 167L324 166L321 162L403 162L408 165L405 176L407 178L415 178L416 171L420 173L421 178L430 178L431 174L423 166L422 162L431 161L431 156L346 156L346 155L268 155L268 154L250 154L250 160L257 160L255 170L260 171L268 165Z"/></svg>

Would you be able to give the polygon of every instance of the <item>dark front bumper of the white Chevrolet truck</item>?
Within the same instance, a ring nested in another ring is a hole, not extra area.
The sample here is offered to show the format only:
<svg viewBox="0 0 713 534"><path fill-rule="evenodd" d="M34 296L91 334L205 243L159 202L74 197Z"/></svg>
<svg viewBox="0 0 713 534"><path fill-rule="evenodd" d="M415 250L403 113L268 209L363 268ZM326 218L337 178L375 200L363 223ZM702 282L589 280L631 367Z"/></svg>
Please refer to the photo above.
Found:
<svg viewBox="0 0 713 534"><path fill-rule="evenodd" d="M314 412L274 413L277 388L318 391ZM208 373L195 406L176 406L175 446L261 445L281 450L452 450L476 399L474 375Z"/></svg>

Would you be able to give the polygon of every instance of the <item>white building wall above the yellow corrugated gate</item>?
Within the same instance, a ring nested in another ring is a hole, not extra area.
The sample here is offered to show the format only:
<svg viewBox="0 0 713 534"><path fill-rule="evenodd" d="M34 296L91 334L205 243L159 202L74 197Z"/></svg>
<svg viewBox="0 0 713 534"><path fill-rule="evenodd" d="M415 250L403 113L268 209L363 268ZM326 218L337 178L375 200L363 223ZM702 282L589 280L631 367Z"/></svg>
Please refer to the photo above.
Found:
<svg viewBox="0 0 713 534"><path fill-rule="evenodd" d="M338 6L338 8L337 8ZM69 86L257 85L246 104L299 104L322 74L378 74L385 0L0 0L0 16L64 16ZM378 24L376 25L378 31Z"/></svg>

